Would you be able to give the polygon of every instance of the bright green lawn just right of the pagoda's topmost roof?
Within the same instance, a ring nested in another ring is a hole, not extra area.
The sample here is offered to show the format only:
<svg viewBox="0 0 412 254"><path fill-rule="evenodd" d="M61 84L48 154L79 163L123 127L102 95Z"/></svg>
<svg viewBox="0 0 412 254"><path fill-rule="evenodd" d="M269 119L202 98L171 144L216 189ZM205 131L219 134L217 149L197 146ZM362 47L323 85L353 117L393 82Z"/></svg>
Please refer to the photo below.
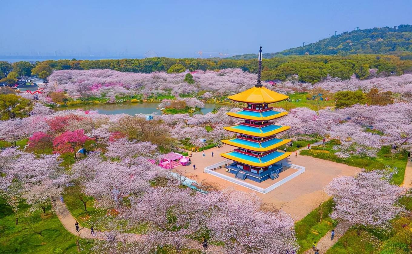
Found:
<svg viewBox="0 0 412 254"><path fill-rule="evenodd" d="M326 108L326 107L334 107L335 101L314 101L314 100L307 100L307 92L301 93L293 93L288 94L290 101L279 101L277 103L270 104L271 107L274 108L284 108L285 110L290 110L291 108L299 108L299 107L306 107L310 108L311 110L318 111L319 109ZM298 101L296 101L298 100Z"/></svg>

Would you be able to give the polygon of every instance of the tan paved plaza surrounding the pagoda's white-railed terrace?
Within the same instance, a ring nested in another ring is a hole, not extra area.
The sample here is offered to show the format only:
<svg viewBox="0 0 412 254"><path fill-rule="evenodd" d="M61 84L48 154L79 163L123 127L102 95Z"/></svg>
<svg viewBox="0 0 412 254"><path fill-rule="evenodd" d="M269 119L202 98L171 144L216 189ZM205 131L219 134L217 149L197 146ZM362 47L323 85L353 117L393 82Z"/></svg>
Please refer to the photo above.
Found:
<svg viewBox="0 0 412 254"><path fill-rule="evenodd" d="M206 154L205 157L202 156L202 152L193 153L193 156L190 157L192 165L180 166L176 169L182 173L185 172L184 174L186 176L194 176L194 180L198 183L206 180L217 183L220 189L233 187L237 190L255 193L263 199L263 202L273 203L276 207L282 207L282 209L295 220L302 219L318 207L319 204L328 200L329 197L323 191L323 188L332 181L333 178L341 175L354 175L361 171L358 167L311 156L299 155L299 151L297 151L297 156L295 156L295 152L293 152L289 160L293 164L306 167L306 171L271 192L262 194L203 172L204 167L225 160L220 157L221 153L226 153L233 149L234 147L229 145L224 145L220 148L214 147L204 151ZM214 157L211 156L212 151L215 155ZM196 169L193 169L193 164L196 165ZM266 181L272 180L268 179Z"/></svg>

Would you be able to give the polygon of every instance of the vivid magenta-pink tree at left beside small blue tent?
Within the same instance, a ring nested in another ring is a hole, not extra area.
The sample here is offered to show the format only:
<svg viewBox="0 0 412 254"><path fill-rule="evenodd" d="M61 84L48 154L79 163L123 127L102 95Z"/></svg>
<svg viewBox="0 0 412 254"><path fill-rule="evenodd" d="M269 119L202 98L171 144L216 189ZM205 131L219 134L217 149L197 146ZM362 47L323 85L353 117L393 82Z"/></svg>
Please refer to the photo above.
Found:
<svg viewBox="0 0 412 254"><path fill-rule="evenodd" d="M87 140L94 140L84 134L84 130L77 129L73 132L64 132L53 141L54 153L73 153L76 157L77 149L83 147Z"/></svg>

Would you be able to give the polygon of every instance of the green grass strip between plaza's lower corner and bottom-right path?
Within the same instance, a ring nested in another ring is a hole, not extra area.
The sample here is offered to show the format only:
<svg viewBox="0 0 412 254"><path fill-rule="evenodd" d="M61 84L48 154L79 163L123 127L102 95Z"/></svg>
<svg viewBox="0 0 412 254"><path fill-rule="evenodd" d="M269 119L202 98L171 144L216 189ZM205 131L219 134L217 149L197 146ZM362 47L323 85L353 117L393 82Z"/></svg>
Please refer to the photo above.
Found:
<svg viewBox="0 0 412 254"><path fill-rule="evenodd" d="M333 200L329 199L295 223L297 243L300 245L298 253L310 249L314 241L318 242L323 235L336 226L335 221L329 217L334 206Z"/></svg>

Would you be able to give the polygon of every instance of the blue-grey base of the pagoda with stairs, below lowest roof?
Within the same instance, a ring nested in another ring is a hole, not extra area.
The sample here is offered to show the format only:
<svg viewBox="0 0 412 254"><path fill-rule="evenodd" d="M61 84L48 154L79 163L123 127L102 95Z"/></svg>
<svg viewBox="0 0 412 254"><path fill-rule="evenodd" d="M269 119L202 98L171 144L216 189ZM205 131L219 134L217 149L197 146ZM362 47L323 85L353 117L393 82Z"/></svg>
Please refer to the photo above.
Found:
<svg viewBox="0 0 412 254"><path fill-rule="evenodd" d="M272 169L268 169L264 172L261 172L260 174L256 174L250 171L239 169L238 167L236 167L236 163L234 163L233 165L226 166L226 171L234 174L236 178L242 180L250 179L258 183L265 181L267 179L274 180L279 177L279 173L286 169L286 167L283 167L281 165L273 165Z"/></svg>

